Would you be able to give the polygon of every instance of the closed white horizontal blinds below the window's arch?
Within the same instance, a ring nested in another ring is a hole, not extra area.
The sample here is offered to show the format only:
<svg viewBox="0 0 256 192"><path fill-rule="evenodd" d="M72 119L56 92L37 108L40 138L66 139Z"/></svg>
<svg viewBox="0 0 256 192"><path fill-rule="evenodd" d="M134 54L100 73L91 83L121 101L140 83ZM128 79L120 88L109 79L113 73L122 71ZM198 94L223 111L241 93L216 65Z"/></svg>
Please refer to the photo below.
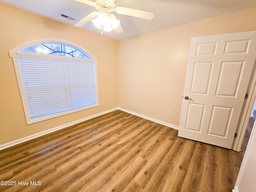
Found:
<svg viewBox="0 0 256 192"><path fill-rule="evenodd" d="M97 105L95 63L17 59L30 120Z"/></svg>

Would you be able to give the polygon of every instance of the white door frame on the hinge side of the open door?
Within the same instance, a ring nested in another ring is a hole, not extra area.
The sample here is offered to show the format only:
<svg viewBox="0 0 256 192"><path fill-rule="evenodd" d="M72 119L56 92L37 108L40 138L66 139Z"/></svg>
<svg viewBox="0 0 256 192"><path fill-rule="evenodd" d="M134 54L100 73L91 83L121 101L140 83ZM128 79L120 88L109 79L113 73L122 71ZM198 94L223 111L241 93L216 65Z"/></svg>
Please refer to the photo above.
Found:
<svg viewBox="0 0 256 192"><path fill-rule="evenodd" d="M246 133L252 108L256 99L256 60L254 61L254 67L252 70L250 82L249 82L246 93L248 94L248 98L244 100L244 104L243 104L240 118L238 121L238 126L236 128L237 136L236 138L234 138L232 148L231 148L232 150L235 150L238 152L240 152L240 149L242 147L244 135Z"/></svg>

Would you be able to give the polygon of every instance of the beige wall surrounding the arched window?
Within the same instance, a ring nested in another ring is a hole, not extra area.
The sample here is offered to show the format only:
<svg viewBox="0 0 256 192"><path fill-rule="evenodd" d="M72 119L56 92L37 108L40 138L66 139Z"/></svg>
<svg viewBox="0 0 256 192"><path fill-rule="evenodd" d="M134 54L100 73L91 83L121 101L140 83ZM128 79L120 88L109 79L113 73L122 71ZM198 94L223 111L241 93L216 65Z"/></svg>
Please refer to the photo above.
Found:
<svg viewBox="0 0 256 192"><path fill-rule="evenodd" d="M117 107L117 41L0 5L0 145ZM78 44L98 60L100 106L26 125L12 58L8 52L37 38ZM102 106L105 101L106 105Z"/></svg>

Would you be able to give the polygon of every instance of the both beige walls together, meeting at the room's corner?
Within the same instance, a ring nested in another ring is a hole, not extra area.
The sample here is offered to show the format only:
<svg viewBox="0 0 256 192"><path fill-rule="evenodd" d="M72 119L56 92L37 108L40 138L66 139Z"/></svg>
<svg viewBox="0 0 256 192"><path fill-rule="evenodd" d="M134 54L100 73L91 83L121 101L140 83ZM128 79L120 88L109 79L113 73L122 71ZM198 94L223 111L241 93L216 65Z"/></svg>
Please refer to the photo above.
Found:
<svg viewBox="0 0 256 192"><path fill-rule="evenodd" d="M0 17L0 145L115 107L179 126L191 37L256 30L256 7L120 41L5 6ZM99 107L26 125L8 52L36 38L65 39L93 54Z"/></svg>

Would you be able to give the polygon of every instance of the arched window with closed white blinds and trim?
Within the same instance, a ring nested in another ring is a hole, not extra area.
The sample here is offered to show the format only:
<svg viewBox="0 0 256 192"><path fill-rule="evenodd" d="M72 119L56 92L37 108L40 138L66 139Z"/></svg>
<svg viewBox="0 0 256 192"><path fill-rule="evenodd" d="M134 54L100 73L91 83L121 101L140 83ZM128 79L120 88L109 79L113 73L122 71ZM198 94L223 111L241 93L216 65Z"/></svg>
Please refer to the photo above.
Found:
<svg viewBox="0 0 256 192"><path fill-rule="evenodd" d="M65 40L33 40L10 52L27 124L98 106L96 59Z"/></svg>

